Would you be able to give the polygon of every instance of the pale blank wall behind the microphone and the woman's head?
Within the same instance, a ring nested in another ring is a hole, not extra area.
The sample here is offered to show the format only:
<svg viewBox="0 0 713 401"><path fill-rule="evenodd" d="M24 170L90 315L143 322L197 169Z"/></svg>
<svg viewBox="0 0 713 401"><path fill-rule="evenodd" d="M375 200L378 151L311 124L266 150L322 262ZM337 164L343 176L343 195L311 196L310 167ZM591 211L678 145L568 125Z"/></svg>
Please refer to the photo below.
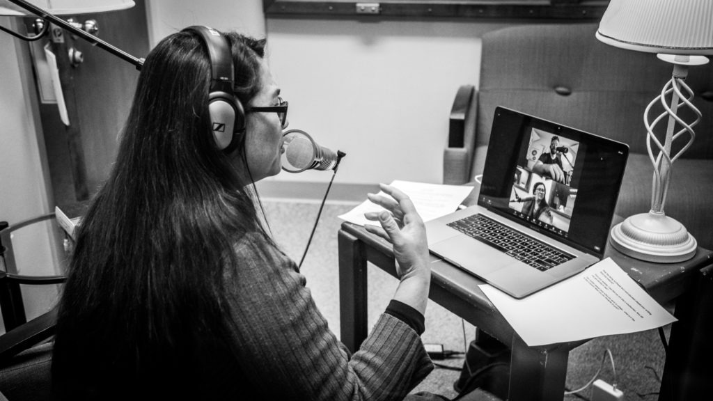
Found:
<svg viewBox="0 0 713 401"><path fill-rule="evenodd" d="M261 0L148 1L150 40L190 24L267 32L289 128L347 153L337 183L440 183L448 114L458 86L477 83L490 21L267 19ZM271 181L328 181L281 173Z"/></svg>

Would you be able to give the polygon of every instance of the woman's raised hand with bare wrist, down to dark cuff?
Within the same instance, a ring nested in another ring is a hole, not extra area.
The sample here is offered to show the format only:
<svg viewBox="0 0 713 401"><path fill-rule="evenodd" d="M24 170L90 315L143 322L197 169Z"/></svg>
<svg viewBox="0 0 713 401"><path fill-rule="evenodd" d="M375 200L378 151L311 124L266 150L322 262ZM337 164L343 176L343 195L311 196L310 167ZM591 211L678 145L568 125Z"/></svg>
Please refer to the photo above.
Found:
<svg viewBox="0 0 713 401"><path fill-rule="evenodd" d="M369 193L368 197L371 202L386 210L365 213L364 217L379 221L381 227L364 225L364 228L394 245L396 273L401 280L394 300L411 305L424 314L431 285L429 245L424 220L421 220L414 203L405 193L386 184L379 184L379 187L388 196Z"/></svg>

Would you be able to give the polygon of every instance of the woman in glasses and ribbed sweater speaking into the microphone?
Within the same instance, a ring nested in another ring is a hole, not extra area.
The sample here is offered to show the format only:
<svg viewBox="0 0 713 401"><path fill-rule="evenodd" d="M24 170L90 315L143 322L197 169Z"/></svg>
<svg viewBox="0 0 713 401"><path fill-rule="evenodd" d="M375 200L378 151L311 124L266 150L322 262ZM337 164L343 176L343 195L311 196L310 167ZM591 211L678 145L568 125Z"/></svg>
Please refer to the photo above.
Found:
<svg viewBox="0 0 713 401"><path fill-rule="evenodd" d="M430 270L403 193L369 199L401 282L349 355L263 228L255 181L280 171L286 110L265 41L225 34L245 132L218 149L206 44L172 34L145 60L111 175L78 228L53 353L66 400L399 400L433 368L420 333ZM424 395L424 397L429 397Z"/></svg>

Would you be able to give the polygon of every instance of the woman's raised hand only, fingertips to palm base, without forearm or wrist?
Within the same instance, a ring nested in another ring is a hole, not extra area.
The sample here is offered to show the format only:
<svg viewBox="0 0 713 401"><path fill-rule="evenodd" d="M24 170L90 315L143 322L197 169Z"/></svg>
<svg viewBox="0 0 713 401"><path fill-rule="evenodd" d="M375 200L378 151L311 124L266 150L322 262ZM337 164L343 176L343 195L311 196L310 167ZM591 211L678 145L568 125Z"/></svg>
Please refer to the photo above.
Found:
<svg viewBox="0 0 713 401"><path fill-rule="evenodd" d="M364 228L394 245L394 256L398 262L397 270L400 278L409 275L430 275L426 226L416 212L414 203L409 196L397 188L386 184L379 186L381 191L389 196L369 193L367 197L386 210L365 213L364 216L367 220L378 220L381 227L365 225Z"/></svg>

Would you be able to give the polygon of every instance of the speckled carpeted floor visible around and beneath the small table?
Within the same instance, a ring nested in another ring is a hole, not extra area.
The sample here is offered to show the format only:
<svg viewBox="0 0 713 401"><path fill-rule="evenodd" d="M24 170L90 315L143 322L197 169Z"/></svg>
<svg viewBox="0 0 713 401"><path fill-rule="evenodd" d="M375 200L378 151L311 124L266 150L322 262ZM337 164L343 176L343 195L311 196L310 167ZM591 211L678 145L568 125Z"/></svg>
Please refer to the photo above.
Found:
<svg viewBox="0 0 713 401"><path fill-rule="evenodd" d="M317 218L319 203L312 200L283 200L269 198L263 201L272 234L284 251L299 263L307 245L309 233ZM317 306L327 318L330 327L339 337L339 277L337 271L337 230L342 220L338 215L347 212L356 203L327 203L322 211L317 231L302 264L307 286L312 290ZM378 268L369 269L369 325L386 308L397 281ZM670 326L665 329L668 337ZM421 336L426 343L443 344L446 350L463 352L473 340L475 328L464 323L453 313L430 302L426 310L426 332ZM665 353L657 330L631 335L600 337L570 352L567 388L575 390L587 384L602 367L599 378L612 383L615 378L611 362L602 365L602 355L609 348L615 362L617 388L626 400L657 400L660 376ZM439 361L443 365L459 368L463 358ZM435 392L455 397L453 383L460 372L437 367L414 391ZM591 386L576 395L565 395L564 400L589 400Z"/></svg>

